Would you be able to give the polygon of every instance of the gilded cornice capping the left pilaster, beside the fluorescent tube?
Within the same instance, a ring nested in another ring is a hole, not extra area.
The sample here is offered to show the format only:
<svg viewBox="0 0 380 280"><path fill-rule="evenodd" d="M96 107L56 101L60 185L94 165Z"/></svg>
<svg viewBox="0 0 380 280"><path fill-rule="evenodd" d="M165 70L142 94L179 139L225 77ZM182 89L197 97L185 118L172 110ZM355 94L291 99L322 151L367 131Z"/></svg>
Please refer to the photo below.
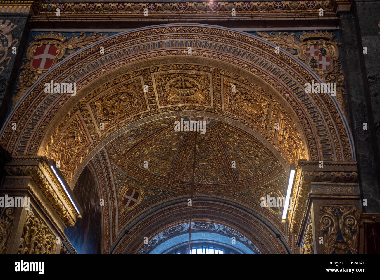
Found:
<svg viewBox="0 0 380 280"><path fill-rule="evenodd" d="M5 175L30 176L66 226L73 226L78 213L42 157L14 157L5 165Z"/></svg>

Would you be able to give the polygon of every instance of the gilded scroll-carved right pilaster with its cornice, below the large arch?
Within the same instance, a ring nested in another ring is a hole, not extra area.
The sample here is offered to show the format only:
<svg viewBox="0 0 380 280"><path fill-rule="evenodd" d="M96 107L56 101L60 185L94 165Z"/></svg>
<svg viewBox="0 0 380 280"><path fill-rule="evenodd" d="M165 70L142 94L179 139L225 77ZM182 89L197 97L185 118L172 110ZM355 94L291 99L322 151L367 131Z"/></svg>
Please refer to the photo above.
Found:
<svg viewBox="0 0 380 280"><path fill-rule="evenodd" d="M299 161L288 214L299 253L358 253L362 212L355 162Z"/></svg>

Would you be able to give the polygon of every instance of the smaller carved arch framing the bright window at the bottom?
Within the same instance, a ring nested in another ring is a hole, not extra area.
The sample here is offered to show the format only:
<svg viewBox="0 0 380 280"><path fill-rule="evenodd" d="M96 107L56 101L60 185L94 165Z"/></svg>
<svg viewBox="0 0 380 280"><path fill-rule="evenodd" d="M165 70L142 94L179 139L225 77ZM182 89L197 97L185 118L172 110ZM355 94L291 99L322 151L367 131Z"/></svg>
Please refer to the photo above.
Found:
<svg viewBox="0 0 380 280"><path fill-rule="evenodd" d="M144 246L144 237L148 237L150 240L158 233L177 224L186 223L189 219L188 206L177 200L176 204L171 203L171 205L164 206L149 217L139 218L136 226L128 231L127 235L124 233L120 235L111 252L138 253ZM259 248L261 253L284 254L291 252L287 244L288 240L284 240L285 234L271 226L266 218L246 209L237 208L235 205L232 206L227 201L201 200L196 202L193 207L193 221L217 222L228 226L246 236ZM281 233L279 234L279 232Z"/></svg>

